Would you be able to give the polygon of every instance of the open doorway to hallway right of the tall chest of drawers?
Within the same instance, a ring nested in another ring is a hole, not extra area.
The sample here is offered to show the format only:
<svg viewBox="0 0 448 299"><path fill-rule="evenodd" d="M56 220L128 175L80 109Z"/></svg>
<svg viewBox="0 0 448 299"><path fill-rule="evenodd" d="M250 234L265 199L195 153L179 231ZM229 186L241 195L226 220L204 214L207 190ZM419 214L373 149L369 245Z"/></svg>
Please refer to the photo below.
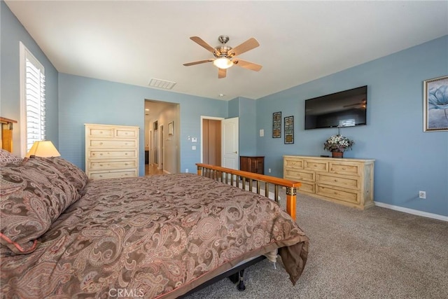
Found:
<svg viewBox="0 0 448 299"><path fill-rule="evenodd" d="M179 172L179 124L179 104L145 100L145 175Z"/></svg>

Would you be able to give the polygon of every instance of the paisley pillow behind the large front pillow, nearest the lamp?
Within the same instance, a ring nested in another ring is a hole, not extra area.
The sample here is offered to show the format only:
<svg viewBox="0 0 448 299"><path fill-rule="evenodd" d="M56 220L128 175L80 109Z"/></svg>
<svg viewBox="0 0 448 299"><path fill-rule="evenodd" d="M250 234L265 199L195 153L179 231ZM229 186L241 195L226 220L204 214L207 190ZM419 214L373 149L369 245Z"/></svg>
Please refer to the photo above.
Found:
<svg viewBox="0 0 448 299"><path fill-rule="evenodd" d="M76 190L80 193L83 189L89 178L87 174L83 172L82 169L78 168L76 165L71 162L60 158L60 157L52 157L52 158L38 158L36 159L45 160L45 162L50 163L53 167L55 167L59 172L61 172L73 186L75 186Z"/></svg>

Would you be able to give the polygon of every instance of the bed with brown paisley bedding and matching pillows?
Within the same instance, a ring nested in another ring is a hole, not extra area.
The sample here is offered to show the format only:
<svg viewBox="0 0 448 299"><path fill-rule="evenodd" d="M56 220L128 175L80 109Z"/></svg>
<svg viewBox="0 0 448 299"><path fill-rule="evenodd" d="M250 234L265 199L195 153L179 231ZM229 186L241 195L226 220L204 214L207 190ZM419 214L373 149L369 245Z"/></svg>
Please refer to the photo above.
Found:
<svg viewBox="0 0 448 299"><path fill-rule="evenodd" d="M295 284L307 261L290 215L222 171L89 181L63 158L2 155L2 298L177 298L276 250Z"/></svg>

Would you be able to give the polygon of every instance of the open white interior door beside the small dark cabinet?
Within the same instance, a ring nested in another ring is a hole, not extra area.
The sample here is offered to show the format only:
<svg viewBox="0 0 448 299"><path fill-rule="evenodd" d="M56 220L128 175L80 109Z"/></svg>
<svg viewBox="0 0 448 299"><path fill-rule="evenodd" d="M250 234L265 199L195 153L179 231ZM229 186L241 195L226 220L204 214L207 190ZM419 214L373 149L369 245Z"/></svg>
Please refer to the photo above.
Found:
<svg viewBox="0 0 448 299"><path fill-rule="evenodd" d="M221 165L239 169L239 118L221 122Z"/></svg>

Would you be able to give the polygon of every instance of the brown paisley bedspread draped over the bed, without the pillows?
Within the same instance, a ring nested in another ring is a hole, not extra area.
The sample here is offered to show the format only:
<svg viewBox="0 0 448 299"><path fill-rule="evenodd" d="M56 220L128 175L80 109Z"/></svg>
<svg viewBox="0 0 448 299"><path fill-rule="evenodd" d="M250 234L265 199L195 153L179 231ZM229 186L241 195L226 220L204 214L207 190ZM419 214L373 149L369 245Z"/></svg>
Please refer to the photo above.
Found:
<svg viewBox="0 0 448 299"><path fill-rule="evenodd" d="M176 298L277 248L293 284L308 238L276 202L196 174L89 181L31 253L1 247L2 298Z"/></svg>

